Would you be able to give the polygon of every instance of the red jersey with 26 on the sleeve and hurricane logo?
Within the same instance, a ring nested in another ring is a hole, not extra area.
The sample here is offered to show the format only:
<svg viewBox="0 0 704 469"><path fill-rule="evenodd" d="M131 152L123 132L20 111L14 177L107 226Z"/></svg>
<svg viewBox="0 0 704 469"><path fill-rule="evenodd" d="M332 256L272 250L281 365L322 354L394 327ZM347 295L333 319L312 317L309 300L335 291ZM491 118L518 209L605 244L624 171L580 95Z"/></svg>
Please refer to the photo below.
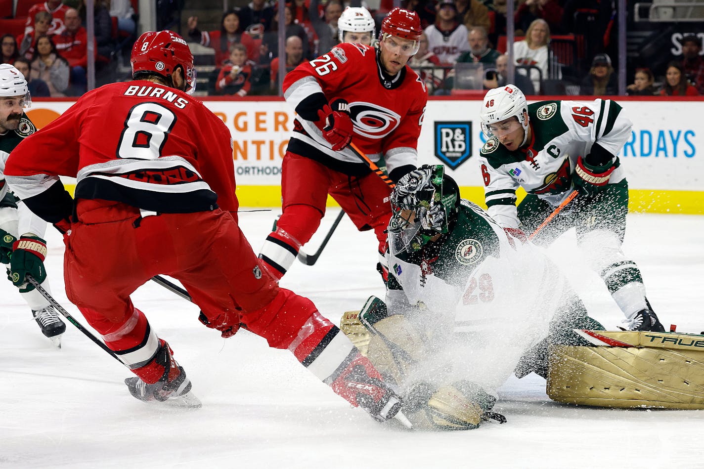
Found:
<svg viewBox="0 0 704 469"><path fill-rule="evenodd" d="M312 158L348 175L369 172L350 149L333 151L316 125L318 110L336 99L349 103L353 142L370 157L386 160L389 173L415 165L427 90L406 66L396 75L382 73L377 50L362 44L338 44L327 54L298 65L284 79L284 97L296 110L289 141L292 153Z"/></svg>

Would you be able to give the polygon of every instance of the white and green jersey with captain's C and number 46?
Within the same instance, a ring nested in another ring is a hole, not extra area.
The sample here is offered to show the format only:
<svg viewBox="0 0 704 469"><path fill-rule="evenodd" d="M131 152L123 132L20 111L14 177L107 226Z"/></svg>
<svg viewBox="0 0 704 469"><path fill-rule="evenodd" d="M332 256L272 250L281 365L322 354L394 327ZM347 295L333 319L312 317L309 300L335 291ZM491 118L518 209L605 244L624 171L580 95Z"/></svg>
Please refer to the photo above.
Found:
<svg viewBox="0 0 704 469"><path fill-rule="evenodd" d="M558 206L574 189L572 173L579 156L598 142L614 155L617 168L609 184L624 180L617 154L631 136L631 121L610 99L593 103L540 101L528 105L531 136L527 145L508 151L496 136L482 146L479 163L489 215L502 227L518 227L516 189L522 187Z"/></svg>

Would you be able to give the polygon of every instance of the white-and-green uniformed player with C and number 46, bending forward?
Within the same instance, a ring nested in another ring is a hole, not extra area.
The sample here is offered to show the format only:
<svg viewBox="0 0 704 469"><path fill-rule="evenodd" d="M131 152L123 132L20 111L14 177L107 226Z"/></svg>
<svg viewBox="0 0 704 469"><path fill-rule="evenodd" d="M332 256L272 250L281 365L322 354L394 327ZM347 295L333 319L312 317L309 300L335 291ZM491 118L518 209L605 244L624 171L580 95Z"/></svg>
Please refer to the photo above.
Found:
<svg viewBox="0 0 704 469"><path fill-rule="evenodd" d="M527 104L515 85L490 89L480 111L487 137L479 154L486 206L505 230L524 237L577 189L579 195L534 242L548 244L572 227L591 268L606 284L630 330L662 332L638 265L621 249L628 182L617 156L631 121L610 99ZM516 189L528 195L516 207Z"/></svg>

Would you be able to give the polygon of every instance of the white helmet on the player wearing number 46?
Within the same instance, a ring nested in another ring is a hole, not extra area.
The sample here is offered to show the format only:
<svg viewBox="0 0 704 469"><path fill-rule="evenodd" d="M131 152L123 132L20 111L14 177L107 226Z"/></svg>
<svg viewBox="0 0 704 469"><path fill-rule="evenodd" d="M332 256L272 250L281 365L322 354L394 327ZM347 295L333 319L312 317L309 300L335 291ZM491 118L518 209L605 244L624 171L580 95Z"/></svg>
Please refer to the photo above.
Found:
<svg viewBox="0 0 704 469"><path fill-rule="evenodd" d="M484 96L482 111L479 112L479 118L482 120L482 132L484 132L486 138L493 135L489 125L512 117L517 118L523 127L522 146L528 139L529 122L526 96L516 85L505 85L504 87L489 89Z"/></svg>

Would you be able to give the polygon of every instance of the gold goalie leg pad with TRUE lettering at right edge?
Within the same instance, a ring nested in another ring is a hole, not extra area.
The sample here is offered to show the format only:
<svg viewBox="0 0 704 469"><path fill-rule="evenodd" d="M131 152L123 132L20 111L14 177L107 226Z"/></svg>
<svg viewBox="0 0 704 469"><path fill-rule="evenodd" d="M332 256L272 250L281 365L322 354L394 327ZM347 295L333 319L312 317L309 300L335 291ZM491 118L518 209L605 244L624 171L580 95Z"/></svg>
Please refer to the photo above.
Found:
<svg viewBox="0 0 704 469"><path fill-rule="evenodd" d="M591 346L551 346L547 393L567 404L704 408L704 335L574 330Z"/></svg>

